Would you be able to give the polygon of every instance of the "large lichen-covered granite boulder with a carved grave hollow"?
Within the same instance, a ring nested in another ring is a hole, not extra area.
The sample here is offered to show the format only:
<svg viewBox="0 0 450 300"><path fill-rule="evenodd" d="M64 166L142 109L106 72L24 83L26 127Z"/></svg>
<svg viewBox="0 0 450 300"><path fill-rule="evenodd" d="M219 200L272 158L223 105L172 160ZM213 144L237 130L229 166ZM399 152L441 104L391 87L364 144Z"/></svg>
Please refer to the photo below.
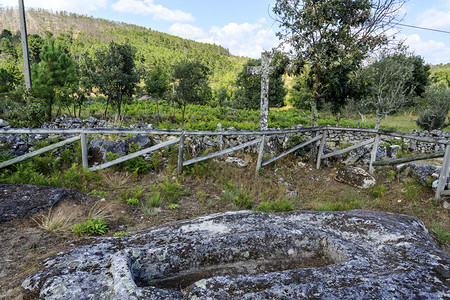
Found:
<svg viewBox="0 0 450 300"><path fill-rule="evenodd" d="M414 217L229 212L96 238L22 286L42 299L449 299L450 255Z"/></svg>

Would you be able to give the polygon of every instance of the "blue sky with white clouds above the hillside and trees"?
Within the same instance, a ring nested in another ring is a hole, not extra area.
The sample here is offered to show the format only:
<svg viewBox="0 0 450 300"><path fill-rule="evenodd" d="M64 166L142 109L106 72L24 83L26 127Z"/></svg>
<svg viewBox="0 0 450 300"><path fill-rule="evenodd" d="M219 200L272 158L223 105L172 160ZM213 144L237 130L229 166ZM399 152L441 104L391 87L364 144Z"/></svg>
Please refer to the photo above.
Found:
<svg viewBox="0 0 450 300"><path fill-rule="evenodd" d="M233 55L260 57L279 44L276 0L23 0L44 8L120 21L191 40L215 43ZM17 7L18 0L0 0ZM450 0L409 0L403 24L450 32ZM450 63L450 33L400 27L396 35L426 63Z"/></svg>

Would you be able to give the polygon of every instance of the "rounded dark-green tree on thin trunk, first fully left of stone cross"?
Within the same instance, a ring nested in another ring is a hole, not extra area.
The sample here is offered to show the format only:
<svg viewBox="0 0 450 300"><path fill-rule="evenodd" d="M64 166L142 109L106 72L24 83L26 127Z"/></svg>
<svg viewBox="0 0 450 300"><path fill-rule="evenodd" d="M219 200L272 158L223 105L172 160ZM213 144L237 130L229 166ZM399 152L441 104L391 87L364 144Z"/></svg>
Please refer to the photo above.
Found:
<svg viewBox="0 0 450 300"><path fill-rule="evenodd" d="M182 108L183 124L187 104L204 104L211 99L212 92L208 84L209 73L209 68L198 61L182 60L174 66L174 100Z"/></svg>

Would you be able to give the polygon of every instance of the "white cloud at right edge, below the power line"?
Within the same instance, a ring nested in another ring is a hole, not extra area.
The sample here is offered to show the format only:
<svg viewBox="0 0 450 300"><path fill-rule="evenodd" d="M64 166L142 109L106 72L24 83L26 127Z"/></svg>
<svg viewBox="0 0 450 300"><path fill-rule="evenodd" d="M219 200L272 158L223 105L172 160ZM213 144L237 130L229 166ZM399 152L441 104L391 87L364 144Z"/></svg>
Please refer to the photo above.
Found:
<svg viewBox="0 0 450 300"><path fill-rule="evenodd" d="M404 36L405 44L416 54L430 64L449 63L450 45L434 40L424 41L418 34Z"/></svg>

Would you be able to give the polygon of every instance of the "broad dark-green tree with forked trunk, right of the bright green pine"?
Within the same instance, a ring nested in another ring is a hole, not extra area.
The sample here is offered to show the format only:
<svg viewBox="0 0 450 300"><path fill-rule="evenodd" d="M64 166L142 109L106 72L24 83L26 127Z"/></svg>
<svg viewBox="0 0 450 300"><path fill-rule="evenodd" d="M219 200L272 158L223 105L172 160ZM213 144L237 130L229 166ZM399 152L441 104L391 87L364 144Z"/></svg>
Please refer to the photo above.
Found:
<svg viewBox="0 0 450 300"><path fill-rule="evenodd" d="M136 50L128 41L124 44L111 41L106 49L95 51L92 57L85 57L81 63L83 85L96 87L107 98L105 117L110 102L116 106L120 117L122 104L132 99L139 82L135 72L135 55Z"/></svg>

